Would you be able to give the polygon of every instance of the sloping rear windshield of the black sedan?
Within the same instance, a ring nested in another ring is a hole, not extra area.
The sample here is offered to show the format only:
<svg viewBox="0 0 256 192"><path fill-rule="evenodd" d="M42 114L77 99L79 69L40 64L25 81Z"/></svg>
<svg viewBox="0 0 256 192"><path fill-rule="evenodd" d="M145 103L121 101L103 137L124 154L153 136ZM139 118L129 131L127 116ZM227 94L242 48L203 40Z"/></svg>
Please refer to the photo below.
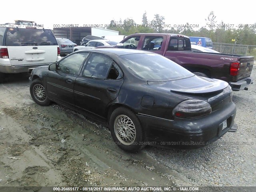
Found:
<svg viewBox="0 0 256 192"><path fill-rule="evenodd" d="M178 80L194 76L175 62L153 53L128 54L119 57L130 73L147 81Z"/></svg>

